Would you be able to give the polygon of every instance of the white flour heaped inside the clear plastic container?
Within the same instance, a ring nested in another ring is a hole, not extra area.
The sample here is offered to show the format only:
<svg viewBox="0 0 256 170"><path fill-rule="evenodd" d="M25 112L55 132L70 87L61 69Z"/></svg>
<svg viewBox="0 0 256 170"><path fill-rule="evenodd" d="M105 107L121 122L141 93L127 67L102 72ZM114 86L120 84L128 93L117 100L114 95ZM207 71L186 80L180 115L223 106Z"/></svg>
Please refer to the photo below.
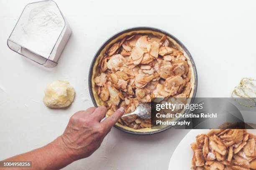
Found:
<svg viewBox="0 0 256 170"><path fill-rule="evenodd" d="M64 19L54 3L33 7L27 22L21 25L22 36L17 42L48 58L64 25Z"/></svg>

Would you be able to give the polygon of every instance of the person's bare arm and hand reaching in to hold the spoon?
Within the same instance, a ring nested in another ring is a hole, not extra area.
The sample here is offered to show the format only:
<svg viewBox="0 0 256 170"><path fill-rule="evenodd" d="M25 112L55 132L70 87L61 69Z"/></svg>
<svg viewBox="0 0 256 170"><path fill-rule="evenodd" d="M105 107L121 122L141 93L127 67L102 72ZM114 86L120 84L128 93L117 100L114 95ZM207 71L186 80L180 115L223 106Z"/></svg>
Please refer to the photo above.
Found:
<svg viewBox="0 0 256 170"><path fill-rule="evenodd" d="M29 162L32 168L0 168L0 170L59 170L75 160L87 158L100 147L103 138L120 119L124 108L116 110L104 121L107 108L90 107L76 112L69 119L63 135L48 145L4 161Z"/></svg>

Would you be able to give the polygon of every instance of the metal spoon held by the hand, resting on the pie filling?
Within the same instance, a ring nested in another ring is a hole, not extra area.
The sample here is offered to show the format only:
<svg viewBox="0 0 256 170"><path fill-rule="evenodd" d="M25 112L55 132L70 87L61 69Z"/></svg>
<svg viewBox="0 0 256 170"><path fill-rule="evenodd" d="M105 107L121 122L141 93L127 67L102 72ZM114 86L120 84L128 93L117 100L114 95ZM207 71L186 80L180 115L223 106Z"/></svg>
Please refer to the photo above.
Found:
<svg viewBox="0 0 256 170"><path fill-rule="evenodd" d="M141 103L137 106L134 112L123 115L122 117L138 115L141 119L150 119L151 118L151 105L147 103Z"/></svg>

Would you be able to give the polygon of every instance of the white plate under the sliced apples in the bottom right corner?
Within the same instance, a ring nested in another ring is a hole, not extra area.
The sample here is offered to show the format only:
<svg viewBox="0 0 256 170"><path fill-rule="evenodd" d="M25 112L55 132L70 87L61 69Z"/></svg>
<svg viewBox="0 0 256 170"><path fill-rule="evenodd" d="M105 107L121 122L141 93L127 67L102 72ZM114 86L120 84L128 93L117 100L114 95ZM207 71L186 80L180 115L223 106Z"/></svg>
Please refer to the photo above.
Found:
<svg viewBox="0 0 256 170"><path fill-rule="evenodd" d="M208 133L209 129L193 129L180 141L172 154L169 163L169 170L190 170L193 151L190 144L195 142L195 137L201 133ZM249 133L256 134L255 129L248 130Z"/></svg>

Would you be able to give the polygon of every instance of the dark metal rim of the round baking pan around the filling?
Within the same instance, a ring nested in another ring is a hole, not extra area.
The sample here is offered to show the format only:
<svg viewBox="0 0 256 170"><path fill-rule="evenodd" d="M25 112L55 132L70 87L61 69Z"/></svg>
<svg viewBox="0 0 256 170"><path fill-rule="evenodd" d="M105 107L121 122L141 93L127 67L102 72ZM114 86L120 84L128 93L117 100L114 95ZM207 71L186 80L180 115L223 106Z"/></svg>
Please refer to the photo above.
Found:
<svg viewBox="0 0 256 170"><path fill-rule="evenodd" d="M196 69L196 66L195 66L195 62L194 62L190 52L185 47L185 45L180 40L178 40L176 37L174 37L172 34L166 32L164 30L160 30L158 28L153 28L153 27L133 27L133 28L128 28L128 29L122 30L122 31L116 33L115 35L111 36L108 40L106 40L101 45L101 47L97 50L95 56L92 59L92 63L91 63L91 66L90 66L90 71L89 71L89 79L88 79L89 81L88 81L88 83L89 83L90 96L92 98L92 102L95 105L95 107L98 107L98 105L97 105L97 102L96 102L95 97L94 97L93 92L92 92L92 72L93 72L93 68L94 68L95 61L96 61L97 57L100 55L101 51L105 48L105 46L108 45L115 38L117 38L120 35L123 35L124 33L127 33L127 32L140 31L140 30L148 30L148 31L160 32L162 34L165 34L165 35L171 37L173 40L175 40L177 42L177 44L179 44L182 47L182 49L187 53L187 55L188 55L188 57L189 57L189 59L190 59L190 61L192 63L192 68L193 68L193 71L194 71L194 78L195 78L194 91L193 91L192 100L191 100L191 102L193 102L193 98L195 97L196 92L197 92L197 69ZM188 111L189 110L186 110L184 112L184 114L187 113ZM180 119L178 119L178 120L180 120ZM167 129L171 128L172 125L166 126L165 128L162 128L162 129L159 129L159 130L156 130L156 131L153 131L153 132L136 132L136 131L126 130L126 129L124 129L122 127L119 127L117 125L115 125L114 127L119 129L119 130L122 130L124 132L131 133L131 134L136 134L136 135L153 135L153 134L160 133L160 132L163 132L164 130L167 130Z"/></svg>

